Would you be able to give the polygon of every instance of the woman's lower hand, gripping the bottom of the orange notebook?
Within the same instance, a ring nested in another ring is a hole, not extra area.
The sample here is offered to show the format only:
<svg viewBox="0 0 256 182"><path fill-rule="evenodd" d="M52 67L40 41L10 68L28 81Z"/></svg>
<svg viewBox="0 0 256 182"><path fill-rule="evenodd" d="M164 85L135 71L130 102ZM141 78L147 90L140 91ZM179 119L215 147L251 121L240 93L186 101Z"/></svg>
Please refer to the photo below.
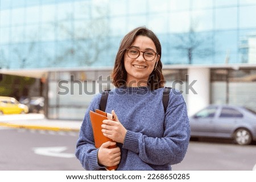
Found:
<svg viewBox="0 0 256 182"><path fill-rule="evenodd" d="M109 146L115 145L115 142L108 141L102 143L98 150L98 163L102 166L116 166L121 160L121 151L119 147L109 149Z"/></svg>

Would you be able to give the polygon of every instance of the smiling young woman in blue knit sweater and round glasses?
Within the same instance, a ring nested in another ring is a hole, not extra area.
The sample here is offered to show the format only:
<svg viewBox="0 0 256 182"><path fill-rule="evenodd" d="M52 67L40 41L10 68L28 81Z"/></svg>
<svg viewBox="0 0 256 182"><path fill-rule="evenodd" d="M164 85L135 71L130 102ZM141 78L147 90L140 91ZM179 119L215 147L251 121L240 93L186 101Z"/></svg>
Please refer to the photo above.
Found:
<svg viewBox="0 0 256 182"><path fill-rule="evenodd" d="M113 139L94 147L89 111L100 106L101 94L92 100L82 122L76 156L85 170L171 170L183 160L190 138L183 96L171 90L163 107L164 77L158 37L138 27L123 38L112 73L106 112L116 120L104 120L102 133ZM113 149L109 146L117 145Z"/></svg>

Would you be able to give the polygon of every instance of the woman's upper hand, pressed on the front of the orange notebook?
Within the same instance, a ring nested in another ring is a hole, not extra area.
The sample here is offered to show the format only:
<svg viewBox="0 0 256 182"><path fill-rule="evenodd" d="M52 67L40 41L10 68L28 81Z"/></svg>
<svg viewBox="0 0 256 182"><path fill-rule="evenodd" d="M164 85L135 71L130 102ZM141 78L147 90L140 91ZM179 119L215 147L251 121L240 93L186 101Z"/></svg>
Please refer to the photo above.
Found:
<svg viewBox="0 0 256 182"><path fill-rule="evenodd" d="M114 116L113 120L103 120L103 124L101 125L101 132L105 137L113 139L115 142L123 143L125 141L125 135L127 130L121 122L118 120L117 115L114 110L112 110L112 115Z"/></svg>

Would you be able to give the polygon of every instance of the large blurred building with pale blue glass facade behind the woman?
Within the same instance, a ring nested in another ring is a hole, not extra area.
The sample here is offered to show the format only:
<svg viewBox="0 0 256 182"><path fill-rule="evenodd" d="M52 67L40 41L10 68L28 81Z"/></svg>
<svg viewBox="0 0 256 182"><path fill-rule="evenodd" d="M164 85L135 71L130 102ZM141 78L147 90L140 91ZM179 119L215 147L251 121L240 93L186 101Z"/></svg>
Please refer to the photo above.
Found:
<svg viewBox="0 0 256 182"><path fill-rule="evenodd" d="M15 93L46 98L48 118L81 120L93 88L109 88L94 81L109 78L122 37L146 26L162 44L167 86L184 91L188 111L201 98L201 106L236 104L256 111L255 16L255 0L0 0L0 71L49 69L36 85ZM208 76L195 84L196 91L207 95L189 96L185 75L198 79L193 75L200 71ZM7 76L1 77L3 95Z"/></svg>

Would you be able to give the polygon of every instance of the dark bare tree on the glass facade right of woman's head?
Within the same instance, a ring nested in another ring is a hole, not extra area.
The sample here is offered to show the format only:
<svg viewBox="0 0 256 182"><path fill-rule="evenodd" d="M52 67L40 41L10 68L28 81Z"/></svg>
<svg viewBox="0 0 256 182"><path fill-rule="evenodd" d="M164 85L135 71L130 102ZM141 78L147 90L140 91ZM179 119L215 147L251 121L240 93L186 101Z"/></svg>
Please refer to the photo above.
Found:
<svg viewBox="0 0 256 182"><path fill-rule="evenodd" d="M176 35L177 45L174 46L176 50L183 50L188 58L188 64L193 63L194 57L205 58L214 54L211 46L213 42L212 36L200 35L195 32L195 28L191 26L189 32L183 35Z"/></svg>

